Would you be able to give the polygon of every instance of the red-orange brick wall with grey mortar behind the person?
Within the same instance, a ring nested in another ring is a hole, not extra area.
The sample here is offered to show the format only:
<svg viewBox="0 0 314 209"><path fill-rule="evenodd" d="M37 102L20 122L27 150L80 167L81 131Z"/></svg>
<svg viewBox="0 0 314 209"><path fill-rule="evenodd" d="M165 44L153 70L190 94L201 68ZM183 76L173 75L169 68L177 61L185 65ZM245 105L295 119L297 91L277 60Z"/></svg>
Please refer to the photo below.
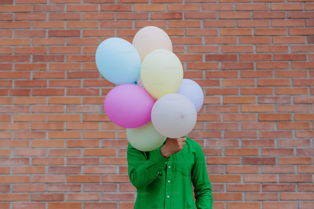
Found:
<svg viewBox="0 0 314 209"><path fill-rule="evenodd" d="M95 51L149 25L204 90L214 208L314 208L314 2L252 2L1 0L0 208L133 208Z"/></svg>

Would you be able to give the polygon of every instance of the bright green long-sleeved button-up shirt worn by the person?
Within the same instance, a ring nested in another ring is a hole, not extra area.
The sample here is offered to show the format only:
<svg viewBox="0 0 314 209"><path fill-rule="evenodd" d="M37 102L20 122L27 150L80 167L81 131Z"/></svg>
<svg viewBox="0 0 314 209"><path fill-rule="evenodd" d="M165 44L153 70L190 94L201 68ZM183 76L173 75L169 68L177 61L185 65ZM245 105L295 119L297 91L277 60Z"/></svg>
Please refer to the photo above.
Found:
<svg viewBox="0 0 314 209"><path fill-rule="evenodd" d="M129 143L128 175L137 188L134 209L213 208L203 150L190 138L185 143L180 152L172 154L168 159L160 154L160 148L165 143L150 152L139 151Z"/></svg>

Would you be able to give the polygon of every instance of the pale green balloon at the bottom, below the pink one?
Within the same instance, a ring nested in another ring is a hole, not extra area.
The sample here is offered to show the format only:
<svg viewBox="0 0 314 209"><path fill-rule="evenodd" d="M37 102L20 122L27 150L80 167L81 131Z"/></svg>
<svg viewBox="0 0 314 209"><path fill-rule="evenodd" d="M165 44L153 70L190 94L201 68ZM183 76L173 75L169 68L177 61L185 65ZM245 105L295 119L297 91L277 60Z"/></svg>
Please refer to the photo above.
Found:
<svg viewBox="0 0 314 209"><path fill-rule="evenodd" d="M158 133L150 121L139 128L127 128L127 139L135 149L148 152L160 147L166 137Z"/></svg>

